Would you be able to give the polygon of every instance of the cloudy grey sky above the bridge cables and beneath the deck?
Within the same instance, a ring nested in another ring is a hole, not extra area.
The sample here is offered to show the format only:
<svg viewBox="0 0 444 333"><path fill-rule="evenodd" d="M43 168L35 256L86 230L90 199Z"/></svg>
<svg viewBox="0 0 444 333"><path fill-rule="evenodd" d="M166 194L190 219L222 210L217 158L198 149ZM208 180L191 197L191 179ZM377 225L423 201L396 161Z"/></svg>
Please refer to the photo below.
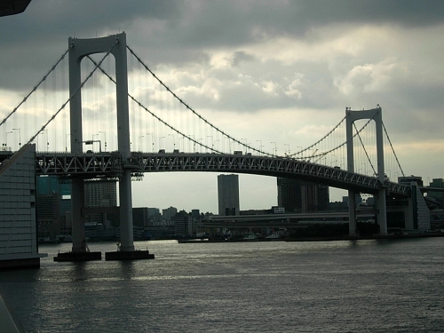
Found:
<svg viewBox="0 0 444 333"><path fill-rule="evenodd" d="M379 104L405 174L444 178L440 0L33 0L0 19L0 114L69 36L122 31L163 82L235 138L294 150L345 107ZM135 207L217 212L216 173L150 173L132 188ZM275 178L240 175L240 199L241 210L276 205Z"/></svg>

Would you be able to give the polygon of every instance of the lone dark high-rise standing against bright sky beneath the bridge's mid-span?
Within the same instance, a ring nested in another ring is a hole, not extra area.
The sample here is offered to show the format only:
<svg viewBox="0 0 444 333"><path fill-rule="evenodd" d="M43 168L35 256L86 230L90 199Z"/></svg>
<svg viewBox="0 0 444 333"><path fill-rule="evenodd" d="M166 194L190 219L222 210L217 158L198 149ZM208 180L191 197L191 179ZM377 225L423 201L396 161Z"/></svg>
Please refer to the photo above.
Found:
<svg viewBox="0 0 444 333"><path fill-rule="evenodd" d="M218 175L218 215L239 214L239 176Z"/></svg>

